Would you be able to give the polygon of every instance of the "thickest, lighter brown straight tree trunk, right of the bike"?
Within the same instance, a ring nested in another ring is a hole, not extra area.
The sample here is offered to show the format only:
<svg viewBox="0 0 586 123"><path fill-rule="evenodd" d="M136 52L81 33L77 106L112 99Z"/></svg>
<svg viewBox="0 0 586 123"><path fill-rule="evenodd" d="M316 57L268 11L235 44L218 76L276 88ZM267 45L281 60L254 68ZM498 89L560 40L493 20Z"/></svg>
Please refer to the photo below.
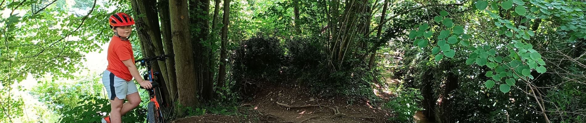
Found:
<svg viewBox="0 0 586 123"><path fill-rule="evenodd" d="M189 43L189 14L187 0L170 0L171 34L177 75L179 104L184 107L198 107L197 85L193 66L193 50Z"/></svg>

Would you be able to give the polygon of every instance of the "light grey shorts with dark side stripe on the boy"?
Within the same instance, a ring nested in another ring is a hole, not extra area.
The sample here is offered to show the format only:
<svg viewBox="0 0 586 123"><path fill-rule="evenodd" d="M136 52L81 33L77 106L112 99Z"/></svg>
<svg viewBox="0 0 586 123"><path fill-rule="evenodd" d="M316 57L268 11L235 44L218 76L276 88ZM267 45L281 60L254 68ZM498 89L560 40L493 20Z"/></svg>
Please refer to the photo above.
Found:
<svg viewBox="0 0 586 123"><path fill-rule="evenodd" d="M102 83L106 87L110 100L114 100L115 97L124 100L127 95L138 92L137 85L134 82L127 82L124 79L120 79L108 70L104 71Z"/></svg>

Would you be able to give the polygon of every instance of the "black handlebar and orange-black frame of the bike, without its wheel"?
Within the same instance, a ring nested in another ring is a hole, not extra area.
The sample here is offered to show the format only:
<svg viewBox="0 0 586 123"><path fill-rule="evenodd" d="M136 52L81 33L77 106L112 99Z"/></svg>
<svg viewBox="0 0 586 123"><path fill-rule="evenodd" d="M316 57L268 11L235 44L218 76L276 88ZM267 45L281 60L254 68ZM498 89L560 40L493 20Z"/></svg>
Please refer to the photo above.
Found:
<svg viewBox="0 0 586 123"><path fill-rule="evenodd" d="M155 110L158 113L157 119L160 122L165 122L165 118L163 117L163 113L161 111L161 106L165 107L167 105L167 103L165 101L163 101L163 96L160 93L160 89L159 89L159 83L157 83L155 76L159 74L159 72L154 72L152 70L152 62L158 61L158 60L164 60L168 57L173 57L174 55L158 55L156 57L152 57L152 58L144 58L144 59L139 59L136 62L140 62L141 66L147 66L147 75L144 75L144 79L145 80L149 80L152 83L152 88L151 89L145 89L147 90L147 92L149 93L149 98L150 101L154 102L155 105ZM143 87L141 87L141 89L144 89ZM159 98L160 97L160 98ZM159 103L160 102L160 103Z"/></svg>

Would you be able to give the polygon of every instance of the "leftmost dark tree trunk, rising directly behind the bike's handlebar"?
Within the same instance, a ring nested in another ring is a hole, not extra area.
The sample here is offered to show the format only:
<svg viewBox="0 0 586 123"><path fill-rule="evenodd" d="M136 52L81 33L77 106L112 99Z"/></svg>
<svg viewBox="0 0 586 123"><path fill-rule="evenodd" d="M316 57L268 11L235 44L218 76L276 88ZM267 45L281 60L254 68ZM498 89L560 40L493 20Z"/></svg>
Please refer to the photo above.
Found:
<svg viewBox="0 0 586 123"><path fill-rule="evenodd" d="M141 45L145 52L144 57L154 57L155 55L162 55L163 43L161 41L161 30L159 29L159 17L156 2L154 0L133 0L132 9L137 12L137 15L145 14L142 17L135 17L136 26L138 29ZM168 75L166 64L163 61L155 62L153 69L155 72L160 72L162 78L158 78L159 83L168 82ZM162 88L166 101L171 101L168 89Z"/></svg>

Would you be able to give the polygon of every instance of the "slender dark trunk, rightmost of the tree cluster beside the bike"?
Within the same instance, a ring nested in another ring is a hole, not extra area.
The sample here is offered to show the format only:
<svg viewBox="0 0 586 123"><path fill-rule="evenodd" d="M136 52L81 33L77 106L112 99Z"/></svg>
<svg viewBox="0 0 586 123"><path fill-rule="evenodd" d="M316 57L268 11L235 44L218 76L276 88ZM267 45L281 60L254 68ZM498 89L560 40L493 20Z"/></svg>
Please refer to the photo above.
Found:
<svg viewBox="0 0 586 123"><path fill-rule="evenodd" d="M226 80L226 43L228 42L228 24L229 24L229 14L230 14L230 0L224 0L224 17L222 23L224 26L222 27L222 46L220 51L220 69L218 73L218 87L220 92L222 92L222 87L224 87L224 80Z"/></svg>

